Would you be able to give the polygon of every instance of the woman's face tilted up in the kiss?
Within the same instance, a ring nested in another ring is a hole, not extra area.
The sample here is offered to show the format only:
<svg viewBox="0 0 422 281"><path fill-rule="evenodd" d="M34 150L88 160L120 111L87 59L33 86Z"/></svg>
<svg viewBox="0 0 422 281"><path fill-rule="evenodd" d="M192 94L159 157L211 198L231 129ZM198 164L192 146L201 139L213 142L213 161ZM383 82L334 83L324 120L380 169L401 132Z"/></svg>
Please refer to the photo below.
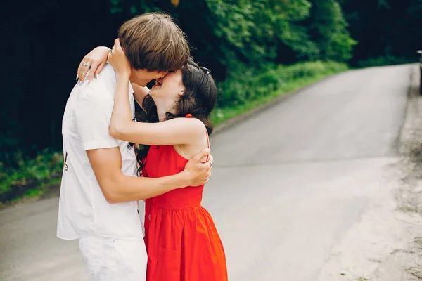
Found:
<svg viewBox="0 0 422 281"><path fill-rule="evenodd" d="M170 70L163 78L155 80L155 85L149 91L152 98L178 100L184 93L184 84L180 70Z"/></svg>

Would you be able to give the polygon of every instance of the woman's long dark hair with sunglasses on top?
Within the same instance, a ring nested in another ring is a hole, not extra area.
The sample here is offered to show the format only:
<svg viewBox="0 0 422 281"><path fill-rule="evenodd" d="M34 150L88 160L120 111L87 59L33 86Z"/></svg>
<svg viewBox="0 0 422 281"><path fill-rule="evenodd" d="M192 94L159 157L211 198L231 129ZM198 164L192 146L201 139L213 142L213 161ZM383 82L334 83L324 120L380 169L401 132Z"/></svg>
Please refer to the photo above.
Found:
<svg viewBox="0 0 422 281"><path fill-rule="evenodd" d="M188 60L188 63L181 68L182 82L185 86L184 94L174 105L175 113L166 112L166 120L191 114L192 117L203 122L209 135L212 133L212 124L209 118L217 102L217 86L210 73L210 70L200 67L192 58ZM159 122L157 106L151 96L147 95L143 99L142 107L143 110L136 115L136 121ZM138 172L141 174L142 159L146 157L149 145L140 145L140 148L135 149L140 166Z"/></svg>

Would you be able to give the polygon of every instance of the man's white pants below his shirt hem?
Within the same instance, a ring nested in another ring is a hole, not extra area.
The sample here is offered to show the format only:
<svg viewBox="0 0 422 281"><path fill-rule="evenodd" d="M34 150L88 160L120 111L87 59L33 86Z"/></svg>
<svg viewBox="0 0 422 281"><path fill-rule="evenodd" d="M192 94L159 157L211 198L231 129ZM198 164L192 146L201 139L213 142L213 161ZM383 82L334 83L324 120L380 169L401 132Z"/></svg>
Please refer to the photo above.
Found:
<svg viewBox="0 0 422 281"><path fill-rule="evenodd" d="M79 239L79 249L94 281L146 280L143 240L87 236Z"/></svg>

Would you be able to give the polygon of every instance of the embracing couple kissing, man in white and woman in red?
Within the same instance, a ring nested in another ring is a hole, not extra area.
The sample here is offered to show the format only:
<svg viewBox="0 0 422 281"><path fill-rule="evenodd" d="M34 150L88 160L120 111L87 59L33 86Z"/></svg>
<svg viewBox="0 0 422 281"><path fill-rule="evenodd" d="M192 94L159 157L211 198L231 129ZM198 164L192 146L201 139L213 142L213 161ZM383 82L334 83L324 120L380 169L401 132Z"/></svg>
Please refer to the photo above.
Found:
<svg viewBox="0 0 422 281"><path fill-rule="evenodd" d="M96 281L227 280L222 242L201 206L215 81L169 15L133 18L118 37L82 60L65 107L57 236L79 240Z"/></svg>

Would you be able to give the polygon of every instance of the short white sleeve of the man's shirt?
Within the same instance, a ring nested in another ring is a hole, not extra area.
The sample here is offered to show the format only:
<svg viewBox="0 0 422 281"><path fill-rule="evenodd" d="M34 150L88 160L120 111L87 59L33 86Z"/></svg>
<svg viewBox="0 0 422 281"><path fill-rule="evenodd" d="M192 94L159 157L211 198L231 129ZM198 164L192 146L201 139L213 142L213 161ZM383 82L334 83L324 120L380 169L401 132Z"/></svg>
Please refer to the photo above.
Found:
<svg viewBox="0 0 422 281"><path fill-rule="evenodd" d="M108 132L113 104L113 97L108 93L82 93L75 108L75 119L84 150L119 146Z"/></svg>

